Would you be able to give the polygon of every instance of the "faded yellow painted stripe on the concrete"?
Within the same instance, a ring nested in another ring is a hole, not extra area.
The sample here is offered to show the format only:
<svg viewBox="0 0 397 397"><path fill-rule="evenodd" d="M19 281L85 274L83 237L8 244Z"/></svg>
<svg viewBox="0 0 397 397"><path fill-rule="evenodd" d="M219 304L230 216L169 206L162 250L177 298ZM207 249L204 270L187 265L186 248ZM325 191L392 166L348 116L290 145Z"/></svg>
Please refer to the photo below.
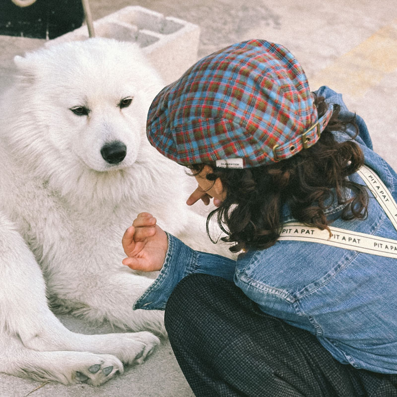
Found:
<svg viewBox="0 0 397 397"><path fill-rule="evenodd" d="M310 79L311 87L332 89L359 98L397 69L397 19L340 56Z"/></svg>

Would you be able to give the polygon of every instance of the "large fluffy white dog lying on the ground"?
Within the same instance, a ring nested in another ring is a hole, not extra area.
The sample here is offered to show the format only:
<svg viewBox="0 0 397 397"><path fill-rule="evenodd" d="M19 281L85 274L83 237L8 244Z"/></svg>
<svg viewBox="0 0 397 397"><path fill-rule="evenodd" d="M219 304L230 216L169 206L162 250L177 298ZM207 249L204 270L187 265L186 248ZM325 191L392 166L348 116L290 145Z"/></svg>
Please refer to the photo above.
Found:
<svg viewBox="0 0 397 397"><path fill-rule="evenodd" d="M163 83L135 45L72 42L15 64L0 103L0 372L100 385L144 360L159 343L149 331L165 333L163 312L132 310L153 280L121 264L137 213L196 249L211 243L185 204L190 177L147 142ZM47 298L134 332L68 331Z"/></svg>

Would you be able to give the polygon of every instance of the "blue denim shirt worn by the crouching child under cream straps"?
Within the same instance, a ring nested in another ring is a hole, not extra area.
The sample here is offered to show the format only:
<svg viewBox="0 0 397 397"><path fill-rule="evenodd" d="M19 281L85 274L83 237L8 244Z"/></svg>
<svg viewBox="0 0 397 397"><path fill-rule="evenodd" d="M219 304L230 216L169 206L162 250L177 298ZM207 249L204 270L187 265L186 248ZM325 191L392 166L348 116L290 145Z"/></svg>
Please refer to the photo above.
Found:
<svg viewBox="0 0 397 397"><path fill-rule="evenodd" d="M341 106L340 94L321 87L317 94ZM365 157L397 200L397 174L372 150L364 121L356 116L355 137ZM354 136L353 129L334 132L338 141ZM364 184L357 174L351 180ZM368 218L342 220L334 203L327 216L332 226L397 240L397 231L370 194ZM288 208L283 221L294 220ZM172 235L165 263L134 309L165 309L178 282L190 273L207 273L234 281L267 314L310 331L341 363L373 372L397 373L397 261L314 242L277 241L261 251L249 251L237 261L197 252Z"/></svg>

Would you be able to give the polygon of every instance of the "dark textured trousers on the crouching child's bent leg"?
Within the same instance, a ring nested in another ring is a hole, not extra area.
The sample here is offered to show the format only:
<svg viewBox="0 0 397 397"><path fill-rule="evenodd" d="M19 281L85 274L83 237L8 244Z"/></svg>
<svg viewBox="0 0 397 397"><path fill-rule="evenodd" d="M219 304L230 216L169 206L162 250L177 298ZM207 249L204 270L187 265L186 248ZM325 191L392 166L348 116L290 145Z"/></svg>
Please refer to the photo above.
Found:
<svg viewBox="0 0 397 397"><path fill-rule="evenodd" d="M165 325L196 397L397 397L397 375L339 363L309 331L263 313L220 277L185 277Z"/></svg>

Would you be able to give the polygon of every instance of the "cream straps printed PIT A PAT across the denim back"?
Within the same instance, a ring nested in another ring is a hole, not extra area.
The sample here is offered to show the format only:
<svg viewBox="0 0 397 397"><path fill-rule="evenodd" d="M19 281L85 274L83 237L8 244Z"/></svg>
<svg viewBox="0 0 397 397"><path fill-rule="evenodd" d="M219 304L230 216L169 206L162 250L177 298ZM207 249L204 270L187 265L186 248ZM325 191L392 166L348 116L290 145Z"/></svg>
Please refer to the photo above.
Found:
<svg viewBox="0 0 397 397"><path fill-rule="evenodd" d="M397 230L397 203L389 190L380 180L379 176L370 168L364 166L358 173ZM288 222L283 225L278 240L321 243L366 254L397 259L397 240L377 237L366 233L352 232L337 227L330 227L330 230L331 236L327 229L320 230L300 222Z"/></svg>

